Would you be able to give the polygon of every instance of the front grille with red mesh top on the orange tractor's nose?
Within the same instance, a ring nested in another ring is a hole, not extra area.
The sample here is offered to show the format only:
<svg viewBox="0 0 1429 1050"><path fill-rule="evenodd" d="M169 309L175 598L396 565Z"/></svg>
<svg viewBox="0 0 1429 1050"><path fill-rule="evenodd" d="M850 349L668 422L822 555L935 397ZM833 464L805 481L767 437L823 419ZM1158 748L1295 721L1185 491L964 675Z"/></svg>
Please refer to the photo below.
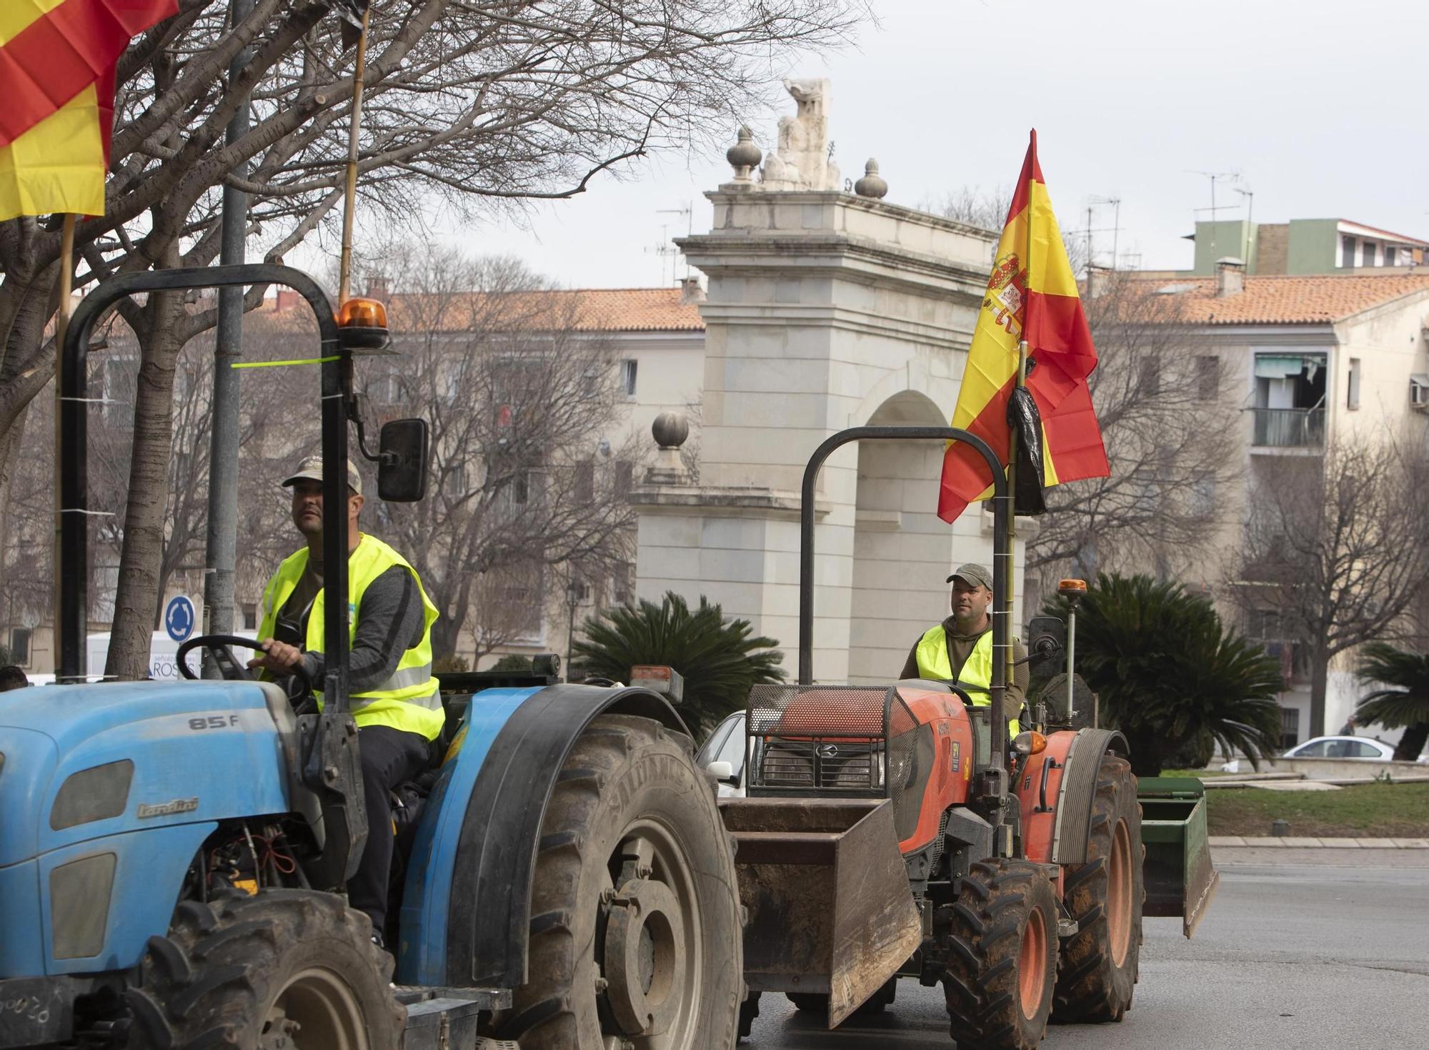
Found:
<svg viewBox="0 0 1429 1050"><path fill-rule="evenodd" d="M917 724L886 687L757 685L746 727L753 794L886 797L889 757Z"/></svg>

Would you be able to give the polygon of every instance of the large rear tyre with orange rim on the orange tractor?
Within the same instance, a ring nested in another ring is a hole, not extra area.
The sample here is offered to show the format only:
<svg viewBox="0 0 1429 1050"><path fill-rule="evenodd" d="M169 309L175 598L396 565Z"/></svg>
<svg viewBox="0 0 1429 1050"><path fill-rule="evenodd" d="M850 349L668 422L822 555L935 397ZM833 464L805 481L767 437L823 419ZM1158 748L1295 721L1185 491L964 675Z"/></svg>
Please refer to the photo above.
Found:
<svg viewBox="0 0 1429 1050"><path fill-rule="evenodd" d="M1053 1021L1119 1021L1132 1007L1140 967L1142 807L1125 758L1103 755L1086 864L1067 865L1063 901L1080 923L1062 946Z"/></svg>

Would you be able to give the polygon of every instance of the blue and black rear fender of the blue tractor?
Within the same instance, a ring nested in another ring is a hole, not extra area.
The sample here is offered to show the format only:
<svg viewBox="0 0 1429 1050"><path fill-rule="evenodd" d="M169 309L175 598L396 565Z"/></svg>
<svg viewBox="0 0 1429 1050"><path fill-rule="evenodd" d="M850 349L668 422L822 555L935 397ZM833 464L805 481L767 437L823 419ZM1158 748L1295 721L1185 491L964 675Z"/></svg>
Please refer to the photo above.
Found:
<svg viewBox="0 0 1429 1050"><path fill-rule="evenodd" d="M602 714L639 715L690 735L674 708L649 690L557 684L473 698L453 742L460 754L449 755L429 800L437 813L430 828L423 815L414 845L400 980L494 988L526 983L532 874L546 807L570 750Z"/></svg>

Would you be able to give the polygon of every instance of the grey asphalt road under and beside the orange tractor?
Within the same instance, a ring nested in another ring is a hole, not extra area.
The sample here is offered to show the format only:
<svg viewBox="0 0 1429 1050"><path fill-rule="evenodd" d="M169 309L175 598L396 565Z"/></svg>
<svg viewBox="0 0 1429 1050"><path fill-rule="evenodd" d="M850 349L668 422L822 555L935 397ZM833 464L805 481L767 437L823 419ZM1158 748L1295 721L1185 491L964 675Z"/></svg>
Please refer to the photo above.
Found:
<svg viewBox="0 0 1429 1050"><path fill-rule="evenodd" d="M1179 920L1146 920L1126 1020L1052 1026L1043 1050L1429 1046L1429 850L1238 853L1258 863L1218 857L1220 891L1195 940ZM942 988L900 981L883 1016L836 1031L766 993L740 1046L952 1050L953 1040Z"/></svg>

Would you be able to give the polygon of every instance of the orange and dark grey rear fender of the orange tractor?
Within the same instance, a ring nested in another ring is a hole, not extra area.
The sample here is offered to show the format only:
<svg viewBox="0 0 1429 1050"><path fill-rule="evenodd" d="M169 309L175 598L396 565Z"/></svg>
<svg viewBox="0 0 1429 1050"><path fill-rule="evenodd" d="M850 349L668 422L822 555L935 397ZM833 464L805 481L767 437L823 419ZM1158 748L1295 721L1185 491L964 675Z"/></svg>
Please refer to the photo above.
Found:
<svg viewBox="0 0 1429 1050"><path fill-rule="evenodd" d="M1042 864L1085 864L1096 803L1102 755L1127 757L1116 730L1053 732L1046 750L1017 771L1015 791L1022 808L1029 860Z"/></svg>

